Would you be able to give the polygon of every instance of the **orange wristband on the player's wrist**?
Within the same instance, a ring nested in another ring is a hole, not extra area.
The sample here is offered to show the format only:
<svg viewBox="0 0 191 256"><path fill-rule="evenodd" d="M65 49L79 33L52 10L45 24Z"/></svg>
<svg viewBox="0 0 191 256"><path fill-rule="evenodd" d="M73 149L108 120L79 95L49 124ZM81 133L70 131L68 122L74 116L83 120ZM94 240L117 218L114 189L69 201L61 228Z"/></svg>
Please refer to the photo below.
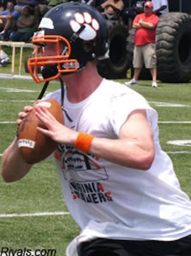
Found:
<svg viewBox="0 0 191 256"><path fill-rule="evenodd" d="M76 149L80 149L85 153L88 153L92 144L92 139L94 139L93 135L80 132L76 139L74 147L76 147Z"/></svg>

